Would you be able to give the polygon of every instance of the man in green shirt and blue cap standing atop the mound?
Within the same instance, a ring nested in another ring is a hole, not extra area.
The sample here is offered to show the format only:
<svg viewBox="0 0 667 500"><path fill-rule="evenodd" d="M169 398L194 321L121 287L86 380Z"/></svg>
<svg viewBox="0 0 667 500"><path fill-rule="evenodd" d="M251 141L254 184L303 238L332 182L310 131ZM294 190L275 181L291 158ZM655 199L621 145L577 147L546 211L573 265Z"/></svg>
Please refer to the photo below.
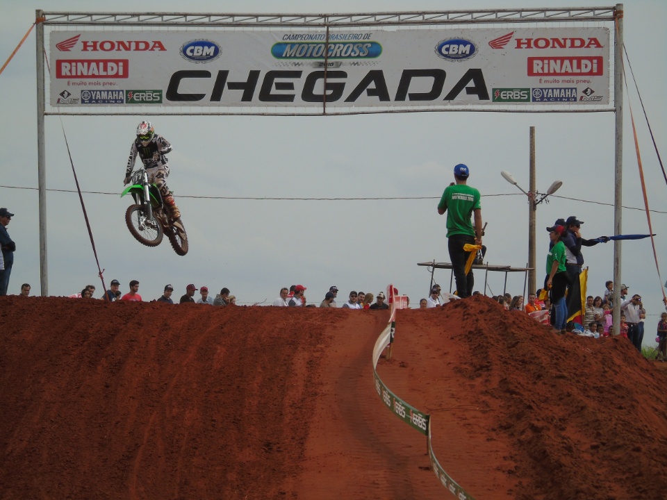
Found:
<svg viewBox="0 0 667 500"><path fill-rule="evenodd" d="M472 295L475 278L472 269L466 276L466 261L470 252L464 251L466 244L481 245L481 205L479 191L468 185L470 169L463 163L454 167L456 184L450 184L438 203L438 213L447 212L447 247L450 251L452 270L456 280L456 295L465 299ZM475 228L470 217L475 214Z"/></svg>

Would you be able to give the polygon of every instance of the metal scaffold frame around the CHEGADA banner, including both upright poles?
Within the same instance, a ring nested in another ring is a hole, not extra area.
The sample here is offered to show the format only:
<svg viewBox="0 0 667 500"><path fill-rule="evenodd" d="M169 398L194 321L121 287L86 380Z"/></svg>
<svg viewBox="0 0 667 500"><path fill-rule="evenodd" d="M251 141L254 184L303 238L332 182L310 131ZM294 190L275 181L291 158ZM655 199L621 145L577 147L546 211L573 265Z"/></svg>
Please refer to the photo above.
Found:
<svg viewBox="0 0 667 500"><path fill-rule="evenodd" d="M68 26L90 28L93 26L110 26L120 29L157 28L227 28L227 29L262 29L262 28L302 28L302 29L342 29L350 27L383 27L395 26L428 28L429 26L465 26L491 24L548 24L568 22L599 22L614 23L614 62L613 62L613 108L591 108L583 111L595 113L613 111L615 113L616 138L615 147L615 185L614 193L614 233L621 233L621 189L623 170L623 4L607 7L571 7L571 8L520 8L520 9L484 9L484 10L449 10L449 11L409 11L409 12L359 12L348 14L229 14L229 13L186 13L186 12L44 12L36 11L36 50L37 50L37 119L38 119L38 182L39 182L39 214L40 214L40 276L42 296L48 295L47 283L47 231L46 231L46 167L44 151L44 117L47 114L85 115L83 113L47 113L44 78L44 29L65 29ZM421 111L475 111L471 108L434 108ZM135 108L132 112L94 113L96 115L136 115L144 110ZM382 113L410 113L420 110L387 110ZM482 110L500 113L554 113L557 110L519 110L498 108ZM575 110L559 110L573 112ZM350 110L338 114L362 114L368 110ZM153 114L156 114L153 112ZM170 115L235 115L240 113L197 113L195 111L176 113L157 113ZM268 113L243 113L267 115ZM337 113L272 113L272 115L304 115L322 116ZM614 282L620 283L621 242L614 242ZM614 291L614 301L620 300L620 290ZM614 333L618 335L620 313L614 310Z"/></svg>

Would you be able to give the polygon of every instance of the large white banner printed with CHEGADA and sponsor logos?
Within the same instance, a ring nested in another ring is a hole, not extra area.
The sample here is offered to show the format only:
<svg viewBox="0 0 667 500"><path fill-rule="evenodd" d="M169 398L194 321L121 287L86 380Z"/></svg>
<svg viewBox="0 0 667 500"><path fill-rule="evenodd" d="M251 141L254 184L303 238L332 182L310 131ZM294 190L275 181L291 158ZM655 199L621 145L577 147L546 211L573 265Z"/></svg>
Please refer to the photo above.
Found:
<svg viewBox="0 0 667 500"><path fill-rule="evenodd" d="M52 31L51 106L609 103L607 28ZM326 90L325 90L326 89Z"/></svg>

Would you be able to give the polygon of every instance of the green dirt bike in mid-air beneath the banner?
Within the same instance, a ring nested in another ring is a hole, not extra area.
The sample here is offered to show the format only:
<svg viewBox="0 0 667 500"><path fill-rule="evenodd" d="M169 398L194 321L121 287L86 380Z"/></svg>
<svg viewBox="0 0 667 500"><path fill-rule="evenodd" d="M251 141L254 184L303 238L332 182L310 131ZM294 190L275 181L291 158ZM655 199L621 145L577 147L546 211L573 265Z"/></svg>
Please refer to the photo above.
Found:
<svg viewBox="0 0 667 500"><path fill-rule="evenodd" d="M165 206L160 191L149 183L144 169L132 172L131 181L120 195L131 194L134 204L125 212L125 222L130 233L141 244L157 247L167 235L172 248L179 256L188 253L188 235L181 219L174 219Z"/></svg>

